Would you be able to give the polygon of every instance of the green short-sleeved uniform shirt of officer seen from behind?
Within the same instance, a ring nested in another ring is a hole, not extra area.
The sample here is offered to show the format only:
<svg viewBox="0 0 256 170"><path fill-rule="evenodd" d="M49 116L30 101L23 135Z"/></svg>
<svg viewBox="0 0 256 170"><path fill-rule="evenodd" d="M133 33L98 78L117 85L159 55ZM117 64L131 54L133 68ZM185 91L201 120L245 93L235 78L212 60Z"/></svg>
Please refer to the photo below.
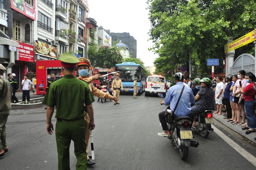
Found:
<svg viewBox="0 0 256 170"><path fill-rule="evenodd" d="M57 105L54 117L64 120L77 120L86 116L84 104L94 102L87 82L74 75L64 75L49 86L42 103L49 107Z"/></svg>

